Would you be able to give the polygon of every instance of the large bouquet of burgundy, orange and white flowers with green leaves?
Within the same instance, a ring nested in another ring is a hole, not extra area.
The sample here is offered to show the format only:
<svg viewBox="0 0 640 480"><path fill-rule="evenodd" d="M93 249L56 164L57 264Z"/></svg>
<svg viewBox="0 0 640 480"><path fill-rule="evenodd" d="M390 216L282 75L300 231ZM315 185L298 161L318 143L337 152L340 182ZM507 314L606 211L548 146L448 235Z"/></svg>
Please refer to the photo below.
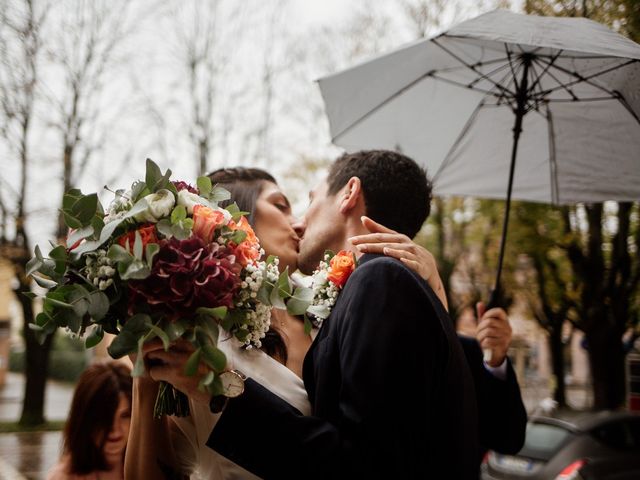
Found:
<svg viewBox="0 0 640 480"><path fill-rule="evenodd" d="M200 386L219 395L226 366L217 348L219 327L247 348L259 348L271 307L285 308L286 299L291 313L303 314L309 294L292 293L277 258L261 259L244 212L235 204L218 206L229 192L207 177L198 178L196 187L171 181L171 171L163 174L151 160L146 167L144 181L116 191L106 211L95 193L64 194L65 244L48 257L36 247L27 266L47 289L30 327L41 337L65 328L84 336L87 348L105 332L115 334L109 354L137 352L134 376L144 372L145 342L159 338L168 349L185 338L195 347L185 373L195 374L204 362L210 371ZM188 413L187 398L163 384L154 414Z"/></svg>

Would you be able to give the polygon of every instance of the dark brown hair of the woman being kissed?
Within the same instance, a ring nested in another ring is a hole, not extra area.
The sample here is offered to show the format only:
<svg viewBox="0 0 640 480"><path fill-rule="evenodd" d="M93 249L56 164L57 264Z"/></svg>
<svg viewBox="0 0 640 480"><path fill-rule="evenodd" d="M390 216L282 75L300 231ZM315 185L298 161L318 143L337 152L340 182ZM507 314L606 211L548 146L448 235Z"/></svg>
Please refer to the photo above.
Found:
<svg viewBox="0 0 640 480"><path fill-rule="evenodd" d="M231 193L231 200L220 202L221 207L235 202L243 212L249 212L247 220L253 226L255 222L256 200L262 193L266 183L275 183L273 176L260 168L220 168L211 172L208 177L214 185L227 189ZM287 362L287 347L280 332L273 326L269 327L265 338L262 339L262 350L270 357L283 363Z"/></svg>

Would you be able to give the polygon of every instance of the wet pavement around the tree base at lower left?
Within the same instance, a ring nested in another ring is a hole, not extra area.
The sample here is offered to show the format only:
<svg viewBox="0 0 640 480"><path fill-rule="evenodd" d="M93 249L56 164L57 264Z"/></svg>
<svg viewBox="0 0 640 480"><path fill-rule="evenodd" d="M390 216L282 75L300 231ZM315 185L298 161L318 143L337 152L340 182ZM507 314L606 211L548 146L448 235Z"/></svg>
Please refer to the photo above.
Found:
<svg viewBox="0 0 640 480"><path fill-rule="evenodd" d="M20 418L24 377L9 373L0 387L0 422ZM45 397L47 420L65 420L73 385L49 381ZM61 432L0 433L0 480L44 480L60 454Z"/></svg>

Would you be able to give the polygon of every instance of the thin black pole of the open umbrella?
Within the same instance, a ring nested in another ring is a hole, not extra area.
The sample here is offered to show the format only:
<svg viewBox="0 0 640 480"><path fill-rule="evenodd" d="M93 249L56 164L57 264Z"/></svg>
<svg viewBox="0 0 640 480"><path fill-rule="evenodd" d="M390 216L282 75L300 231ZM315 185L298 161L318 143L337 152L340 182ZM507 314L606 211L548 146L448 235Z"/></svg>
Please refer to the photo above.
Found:
<svg viewBox="0 0 640 480"><path fill-rule="evenodd" d="M502 238L500 239L500 255L498 257L498 270L496 273L496 283L493 287L491 295L489 296L489 302L487 303L487 309L500 307L502 303L502 292L500 287L500 279L502 276L502 263L504 261L504 250L507 243L507 229L509 226L509 211L511 210L511 192L513 190L513 174L516 167L516 156L518 153L518 141L520 140L520 133L522 133L522 120L526 114L527 106L527 90L529 88L529 66L531 65L531 55L523 54L523 71L522 80L517 85L516 89L516 110L515 110L515 122L513 125L513 146L511 148L511 164L509 165L509 183L507 186L507 201L505 204L504 222L502 224ZM517 82L516 82L517 83ZM479 320L479 319L478 319ZM486 362L491 361L491 350L483 350L484 359Z"/></svg>

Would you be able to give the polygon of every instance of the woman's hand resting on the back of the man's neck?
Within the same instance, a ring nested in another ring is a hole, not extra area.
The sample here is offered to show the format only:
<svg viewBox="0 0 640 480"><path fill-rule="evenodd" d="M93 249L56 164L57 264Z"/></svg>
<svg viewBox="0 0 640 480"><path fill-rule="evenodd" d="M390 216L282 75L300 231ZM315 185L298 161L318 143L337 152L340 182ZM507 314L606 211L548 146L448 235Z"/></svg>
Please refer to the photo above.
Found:
<svg viewBox="0 0 640 480"><path fill-rule="evenodd" d="M449 310L447 295L438 273L436 260L429 250L418 245L406 235L374 222L369 217L361 218L367 235L351 237L349 241L362 253L378 253L397 258L429 283L444 307Z"/></svg>

